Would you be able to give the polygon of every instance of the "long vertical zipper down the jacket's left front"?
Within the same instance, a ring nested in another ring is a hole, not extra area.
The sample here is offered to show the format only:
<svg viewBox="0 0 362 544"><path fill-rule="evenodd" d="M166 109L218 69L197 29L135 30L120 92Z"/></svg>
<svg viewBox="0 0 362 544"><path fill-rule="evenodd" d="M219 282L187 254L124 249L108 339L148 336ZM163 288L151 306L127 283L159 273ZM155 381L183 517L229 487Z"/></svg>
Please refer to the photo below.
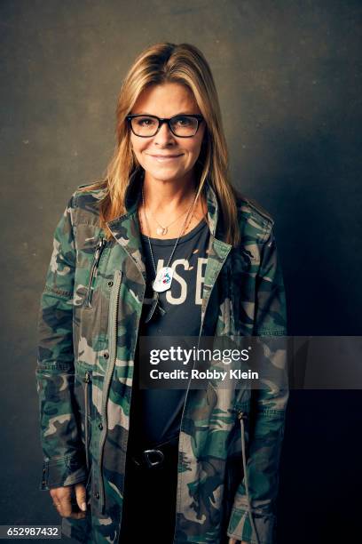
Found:
<svg viewBox="0 0 362 544"><path fill-rule="evenodd" d="M118 314L118 301L119 301L119 292L121 288L122 270L115 270L114 276L114 289L111 293L110 307L112 309L112 323L109 329L110 338L109 338L109 363L106 368L105 382L103 387L103 400L101 408L101 417L103 421L103 430L99 439L99 503L100 508L104 508L105 505L105 484L103 480L103 450L106 441L106 432L108 427L107 413L106 413L106 404L108 398L108 391L112 381L112 374L114 370L115 357L116 357L116 348L117 348L117 314Z"/></svg>

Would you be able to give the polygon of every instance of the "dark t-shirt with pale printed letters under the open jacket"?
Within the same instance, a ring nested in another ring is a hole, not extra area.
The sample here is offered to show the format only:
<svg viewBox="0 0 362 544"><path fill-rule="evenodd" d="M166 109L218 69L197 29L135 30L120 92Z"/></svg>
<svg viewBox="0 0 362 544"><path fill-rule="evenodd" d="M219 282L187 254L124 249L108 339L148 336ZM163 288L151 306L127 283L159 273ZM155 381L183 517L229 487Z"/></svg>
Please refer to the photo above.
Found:
<svg viewBox="0 0 362 544"><path fill-rule="evenodd" d="M178 240L169 266L173 277L169 290L160 292L160 302L166 313L156 310L148 323L146 316L153 298L152 282L155 277L148 238L142 235L146 260L146 299L139 336L199 336L201 326L202 285L208 260L209 226L205 220ZM167 266L177 238L161 240L150 238L156 271ZM130 415L130 436L138 447L152 447L178 435L185 389L139 388L138 349L135 356L135 376Z"/></svg>

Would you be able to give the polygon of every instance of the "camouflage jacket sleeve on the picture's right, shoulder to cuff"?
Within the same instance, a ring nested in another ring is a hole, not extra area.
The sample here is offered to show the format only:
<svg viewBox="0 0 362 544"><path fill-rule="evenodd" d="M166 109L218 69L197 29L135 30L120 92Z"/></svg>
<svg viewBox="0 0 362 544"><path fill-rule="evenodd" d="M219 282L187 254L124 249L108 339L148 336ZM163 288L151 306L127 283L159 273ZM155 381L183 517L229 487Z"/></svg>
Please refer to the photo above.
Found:
<svg viewBox="0 0 362 544"><path fill-rule="evenodd" d="M261 248L256 277L253 335L262 342L259 378L263 388L252 390L247 478L235 494L227 534L256 544L275 542L275 507L279 486L279 457L288 399L287 310L282 272L272 224ZM263 375L268 379L263 380ZM250 516L251 514L251 516ZM251 520L250 520L251 517ZM257 533L257 534L256 534Z"/></svg>

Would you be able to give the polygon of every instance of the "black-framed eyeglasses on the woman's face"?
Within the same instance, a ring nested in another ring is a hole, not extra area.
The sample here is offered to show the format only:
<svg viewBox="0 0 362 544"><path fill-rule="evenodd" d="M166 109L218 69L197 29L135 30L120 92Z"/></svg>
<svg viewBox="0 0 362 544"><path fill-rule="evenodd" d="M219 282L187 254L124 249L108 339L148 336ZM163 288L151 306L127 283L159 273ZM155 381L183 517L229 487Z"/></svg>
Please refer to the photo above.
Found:
<svg viewBox="0 0 362 544"><path fill-rule="evenodd" d="M159 132L163 123L169 125L169 130L177 138L192 138L199 130L203 116L185 115L161 118L142 114L130 114L126 119L130 124L131 131L140 138L151 138Z"/></svg>

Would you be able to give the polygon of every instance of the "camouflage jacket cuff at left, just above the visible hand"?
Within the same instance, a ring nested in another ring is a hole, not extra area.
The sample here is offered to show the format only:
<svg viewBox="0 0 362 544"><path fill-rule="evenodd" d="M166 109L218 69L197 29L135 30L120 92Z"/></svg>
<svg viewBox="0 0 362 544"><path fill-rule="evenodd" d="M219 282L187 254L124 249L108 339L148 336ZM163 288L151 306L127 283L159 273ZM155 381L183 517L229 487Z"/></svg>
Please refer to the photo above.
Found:
<svg viewBox="0 0 362 544"><path fill-rule="evenodd" d="M74 455L67 455L57 460L43 461L43 477L39 486L41 491L52 487L78 484L87 480L87 469L83 462Z"/></svg>

